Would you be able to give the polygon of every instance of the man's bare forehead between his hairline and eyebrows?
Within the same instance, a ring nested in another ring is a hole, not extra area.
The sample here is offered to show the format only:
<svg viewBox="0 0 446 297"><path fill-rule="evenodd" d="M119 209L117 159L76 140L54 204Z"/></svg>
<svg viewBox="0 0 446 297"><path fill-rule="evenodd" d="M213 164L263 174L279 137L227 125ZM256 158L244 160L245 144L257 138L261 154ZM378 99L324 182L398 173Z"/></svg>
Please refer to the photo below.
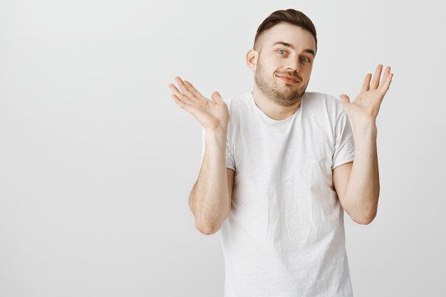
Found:
<svg viewBox="0 0 446 297"><path fill-rule="evenodd" d="M316 51L316 41L313 35L299 26L281 23L264 32L264 45L271 47L278 41L286 42L294 48L311 48Z"/></svg>

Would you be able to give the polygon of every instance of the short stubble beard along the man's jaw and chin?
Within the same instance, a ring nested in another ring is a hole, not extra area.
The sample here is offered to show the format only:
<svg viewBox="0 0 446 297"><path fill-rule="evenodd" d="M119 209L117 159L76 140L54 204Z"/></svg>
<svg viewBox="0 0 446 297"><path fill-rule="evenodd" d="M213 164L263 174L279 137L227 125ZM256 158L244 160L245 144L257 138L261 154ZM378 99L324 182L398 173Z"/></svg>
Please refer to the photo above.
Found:
<svg viewBox="0 0 446 297"><path fill-rule="evenodd" d="M307 87L306 85L304 90L299 92L299 88L294 89L291 87L278 85L276 81L267 78L264 68L261 67L259 60L257 62L256 72L254 74L254 82L261 93L264 93L266 97L283 106L291 106L296 104L299 100L301 100Z"/></svg>

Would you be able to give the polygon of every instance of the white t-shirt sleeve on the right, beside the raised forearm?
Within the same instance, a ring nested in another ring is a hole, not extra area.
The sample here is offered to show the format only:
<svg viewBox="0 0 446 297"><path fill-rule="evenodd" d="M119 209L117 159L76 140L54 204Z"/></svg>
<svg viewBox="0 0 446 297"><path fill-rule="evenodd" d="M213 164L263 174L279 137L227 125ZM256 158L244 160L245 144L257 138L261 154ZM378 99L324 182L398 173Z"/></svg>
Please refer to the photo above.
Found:
<svg viewBox="0 0 446 297"><path fill-rule="evenodd" d="M348 116L343 112L335 126L335 149L331 169L352 162L354 153L353 129Z"/></svg>

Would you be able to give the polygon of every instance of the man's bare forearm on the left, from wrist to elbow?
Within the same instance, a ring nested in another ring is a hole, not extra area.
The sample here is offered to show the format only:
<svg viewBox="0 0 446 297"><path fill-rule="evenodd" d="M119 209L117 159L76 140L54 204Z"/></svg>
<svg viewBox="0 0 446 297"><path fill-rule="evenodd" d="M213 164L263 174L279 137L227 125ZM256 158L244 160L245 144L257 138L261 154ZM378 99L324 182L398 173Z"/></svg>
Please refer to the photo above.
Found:
<svg viewBox="0 0 446 297"><path fill-rule="evenodd" d="M227 218L231 209L226 169L227 131L207 130L202 166L190 194L195 226L211 234Z"/></svg>

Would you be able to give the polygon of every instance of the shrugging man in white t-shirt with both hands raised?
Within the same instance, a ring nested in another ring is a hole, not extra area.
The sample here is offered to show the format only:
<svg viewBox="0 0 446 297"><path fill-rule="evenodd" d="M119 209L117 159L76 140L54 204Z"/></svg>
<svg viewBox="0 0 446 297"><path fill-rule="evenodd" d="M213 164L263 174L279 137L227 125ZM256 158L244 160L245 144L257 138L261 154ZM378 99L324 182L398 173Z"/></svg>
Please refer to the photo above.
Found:
<svg viewBox="0 0 446 297"><path fill-rule="evenodd" d="M352 103L306 92L316 51L305 14L275 11L247 53L252 92L212 102L179 77L169 85L203 126L190 209L203 234L222 231L224 296L353 296L343 212L376 216L375 119L393 73L368 73Z"/></svg>

